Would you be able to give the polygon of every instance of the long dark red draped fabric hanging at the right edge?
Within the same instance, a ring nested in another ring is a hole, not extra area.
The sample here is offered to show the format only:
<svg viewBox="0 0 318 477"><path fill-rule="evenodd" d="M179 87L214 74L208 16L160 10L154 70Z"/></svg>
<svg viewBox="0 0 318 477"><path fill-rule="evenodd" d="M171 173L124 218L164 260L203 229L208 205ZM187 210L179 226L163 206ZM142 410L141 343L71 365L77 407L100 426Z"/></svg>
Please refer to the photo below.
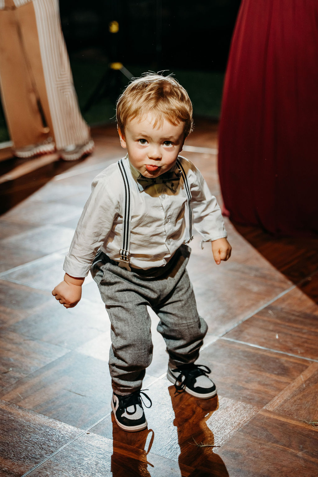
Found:
<svg viewBox="0 0 318 477"><path fill-rule="evenodd" d="M318 237L318 1L243 0L224 84L225 209L277 235Z"/></svg>

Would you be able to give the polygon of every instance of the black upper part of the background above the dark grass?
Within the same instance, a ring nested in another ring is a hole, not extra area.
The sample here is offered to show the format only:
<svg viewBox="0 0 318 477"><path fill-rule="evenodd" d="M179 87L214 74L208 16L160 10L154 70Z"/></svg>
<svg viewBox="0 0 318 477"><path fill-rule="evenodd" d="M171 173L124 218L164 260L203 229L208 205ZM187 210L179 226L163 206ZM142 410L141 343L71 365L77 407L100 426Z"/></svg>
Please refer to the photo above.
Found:
<svg viewBox="0 0 318 477"><path fill-rule="evenodd" d="M239 0L63 0L62 28L70 55L99 49L154 69L224 71ZM117 20L119 32L108 32ZM116 37L116 38L114 38ZM115 59L115 58L114 58Z"/></svg>

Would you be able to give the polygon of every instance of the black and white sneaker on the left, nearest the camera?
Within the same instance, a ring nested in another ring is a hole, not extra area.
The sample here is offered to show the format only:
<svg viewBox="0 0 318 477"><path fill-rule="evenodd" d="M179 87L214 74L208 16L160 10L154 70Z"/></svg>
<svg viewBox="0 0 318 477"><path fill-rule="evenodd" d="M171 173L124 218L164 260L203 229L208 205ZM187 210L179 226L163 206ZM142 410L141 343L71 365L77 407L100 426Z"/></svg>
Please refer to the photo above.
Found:
<svg viewBox="0 0 318 477"><path fill-rule="evenodd" d="M128 394L128 396L120 396L118 394L113 393L113 415L116 423L124 431L142 431L148 425L146 417L144 415L144 409L142 404L142 402L144 403L144 401L140 394L144 394L144 396L150 402L150 406L146 407L151 407L151 399L147 396L147 394L143 393L142 391L135 391L132 394Z"/></svg>

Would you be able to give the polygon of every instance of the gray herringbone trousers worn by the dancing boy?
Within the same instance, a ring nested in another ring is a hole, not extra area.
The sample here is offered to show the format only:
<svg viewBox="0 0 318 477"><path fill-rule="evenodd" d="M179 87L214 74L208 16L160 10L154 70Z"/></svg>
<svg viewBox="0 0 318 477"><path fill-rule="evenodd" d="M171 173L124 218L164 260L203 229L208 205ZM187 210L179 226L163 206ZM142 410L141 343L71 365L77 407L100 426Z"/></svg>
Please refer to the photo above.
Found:
<svg viewBox="0 0 318 477"><path fill-rule="evenodd" d="M142 387L152 360L149 305L160 321L172 365L194 363L207 331L196 310L195 296L185 266L190 249L182 245L164 267L128 271L99 251L92 264L111 320L109 368L113 390L126 395Z"/></svg>

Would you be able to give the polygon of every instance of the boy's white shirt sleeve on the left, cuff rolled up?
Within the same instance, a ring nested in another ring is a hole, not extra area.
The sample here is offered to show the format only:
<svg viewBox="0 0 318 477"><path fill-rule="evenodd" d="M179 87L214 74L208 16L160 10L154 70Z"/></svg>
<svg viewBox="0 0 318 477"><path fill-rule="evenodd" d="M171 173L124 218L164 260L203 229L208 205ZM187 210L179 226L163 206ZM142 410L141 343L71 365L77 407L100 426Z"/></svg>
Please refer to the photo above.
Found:
<svg viewBox="0 0 318 477"><path fill-rule="evenodd" d="M64 260L66 273L77 278L88 275L92 260L112 230L118 214L119 203L112 193L111 178L97 176Z"/></svg>

